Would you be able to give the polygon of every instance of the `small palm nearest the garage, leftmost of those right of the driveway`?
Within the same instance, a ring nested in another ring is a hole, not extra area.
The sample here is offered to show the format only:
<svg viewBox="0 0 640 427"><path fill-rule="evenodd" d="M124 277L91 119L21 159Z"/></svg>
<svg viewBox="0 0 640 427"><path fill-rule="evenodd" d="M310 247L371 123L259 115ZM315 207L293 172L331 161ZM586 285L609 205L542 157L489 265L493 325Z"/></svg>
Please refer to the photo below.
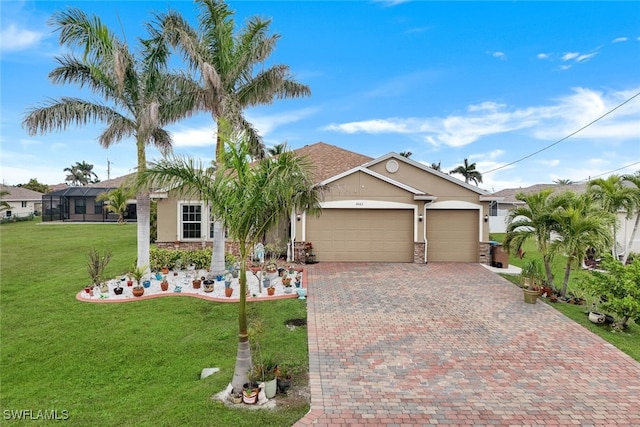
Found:
<svg viewBox="0 0 640 427"><path fill-rule="evenodd" d="M517 251L526 240L535 239L538 252L542 255L547 283L554 288L551 272L553 252L549 245L555 226L553 211L560 200L554 199L552 193L553 189L547 188L533 194L516 194L516 200L524 202L524 205L509 211L504 245L509 250Z"/></svg>

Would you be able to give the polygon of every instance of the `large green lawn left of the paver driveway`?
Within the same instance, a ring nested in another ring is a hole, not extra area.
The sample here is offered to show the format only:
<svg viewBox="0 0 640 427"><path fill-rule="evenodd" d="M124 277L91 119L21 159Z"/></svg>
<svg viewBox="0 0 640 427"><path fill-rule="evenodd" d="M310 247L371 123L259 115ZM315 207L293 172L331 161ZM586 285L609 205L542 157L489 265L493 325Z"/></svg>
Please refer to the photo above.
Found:
<svg viewBox="0 0 640 427"><path fill-rule="evenodd" d="M0 226L0 409L68 411L74 426L286 426L309 409L288 399L277 410L228 408L212 395L230 382L237 346L236 304L160 298L123 304L75 299L88 282L87 253L110 249L110 276L136 256L129 224ZM308 382L306 317L297 299L249 303L261 319L262 353L298 368ZM221 372L200 380L202 368ZM238 405L238 407L242 407ZM11 422L33 425L33 421Z"/></svg>

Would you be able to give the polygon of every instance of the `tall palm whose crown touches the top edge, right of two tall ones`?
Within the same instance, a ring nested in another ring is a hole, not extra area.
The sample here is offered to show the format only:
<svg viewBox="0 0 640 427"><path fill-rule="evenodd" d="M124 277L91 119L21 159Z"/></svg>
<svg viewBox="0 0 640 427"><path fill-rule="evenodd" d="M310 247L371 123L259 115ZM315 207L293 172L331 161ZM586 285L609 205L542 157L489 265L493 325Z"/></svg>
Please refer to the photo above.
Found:
<svg viewBox="0 0 640 427"><path fill-rule="evenodd" d="M199 74L200 87L194 92L200 108L208 111L218 125L220 119L242 130L250 141L254 158L264 157L264 144L257 129L243 114L244 109L271 104L274 99L310 96L308 86L295 81L289 66L267 66L278 34L268 34L270 20L253 17L236 30L233 11L221 0L196 0L199 29L175 11L158 15L159 26L152 43L179 48L191 69ZM218 132L216 162L222 158L224 142ZM224 270L224 227L213 224L211 272Z"/></svg>

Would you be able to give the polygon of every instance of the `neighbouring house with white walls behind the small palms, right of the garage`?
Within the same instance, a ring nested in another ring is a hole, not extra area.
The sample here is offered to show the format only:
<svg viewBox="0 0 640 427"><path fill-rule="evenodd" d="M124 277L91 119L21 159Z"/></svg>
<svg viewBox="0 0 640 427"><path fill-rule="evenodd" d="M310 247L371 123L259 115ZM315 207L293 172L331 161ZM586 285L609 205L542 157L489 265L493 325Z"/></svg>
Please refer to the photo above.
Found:
<svg viewBox="0 0 640 427"><path fill-rule="evenodd" d="M516 194L520 192L533 194L546 188L553 188L554 192L557 193L572 191L576 194L582 194L587 191L587 184L536 184L525 188L506 188L494 193L493 196L496 196L499 200L493 201L489 205L489 229L491 233L507 232L507 215L509 210L513 209L517 205L524 204L523 202L516 200ZM635 215L630 219L627 219L626 216L626 212L618 212L619 227L616 240L618 242L618 249L620 253L624 251L627 242L629 242L635 223ZM635 236L630 250L632 252L640 252L640 230Z"/></svg>

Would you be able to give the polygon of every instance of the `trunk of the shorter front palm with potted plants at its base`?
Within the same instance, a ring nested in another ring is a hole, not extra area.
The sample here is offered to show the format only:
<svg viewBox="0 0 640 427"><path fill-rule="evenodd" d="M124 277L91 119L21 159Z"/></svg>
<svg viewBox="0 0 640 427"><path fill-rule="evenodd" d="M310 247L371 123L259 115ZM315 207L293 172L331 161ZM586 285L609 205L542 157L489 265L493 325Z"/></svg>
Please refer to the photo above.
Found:
<svg viewBox="0 0 640 427"><path fill-rule="evenodd" d="M238 352L236 366L233 371L231 385L234 393L242 391L247 383L249 369L253 366L251 360L251 346L247 328L247 250L246 244L240 243L240 302L238 307Z"/></svg>

